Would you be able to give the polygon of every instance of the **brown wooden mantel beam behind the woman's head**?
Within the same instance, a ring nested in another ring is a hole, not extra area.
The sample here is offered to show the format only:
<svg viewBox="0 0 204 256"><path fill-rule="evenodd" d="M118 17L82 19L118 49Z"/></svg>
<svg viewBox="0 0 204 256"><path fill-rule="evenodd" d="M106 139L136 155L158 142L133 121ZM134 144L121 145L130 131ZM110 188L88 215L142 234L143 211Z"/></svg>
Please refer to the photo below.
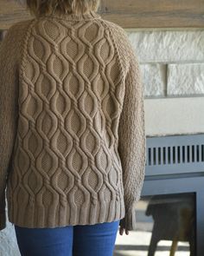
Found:
<svg viewBox="0 0 204 256"><path fill-rule="evenodd" d="M204 27L203 0L101 0L99 14L124 29ZM30 17L17 0L0 0L0 30Z"/></svg>

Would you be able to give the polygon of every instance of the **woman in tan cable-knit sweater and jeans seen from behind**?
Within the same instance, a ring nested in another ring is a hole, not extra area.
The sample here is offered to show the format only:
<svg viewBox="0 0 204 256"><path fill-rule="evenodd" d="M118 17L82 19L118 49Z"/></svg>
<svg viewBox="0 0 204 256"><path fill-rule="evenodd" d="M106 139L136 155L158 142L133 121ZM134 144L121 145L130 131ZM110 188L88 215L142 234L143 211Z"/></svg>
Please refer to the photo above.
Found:
<svg viewBox="0 0 204 256"><path fill-rule="evenodd" d="M0 48L0 229L6 195L22 255L112 255L143 186L137 56L99 0L27 6Z"/></svg>

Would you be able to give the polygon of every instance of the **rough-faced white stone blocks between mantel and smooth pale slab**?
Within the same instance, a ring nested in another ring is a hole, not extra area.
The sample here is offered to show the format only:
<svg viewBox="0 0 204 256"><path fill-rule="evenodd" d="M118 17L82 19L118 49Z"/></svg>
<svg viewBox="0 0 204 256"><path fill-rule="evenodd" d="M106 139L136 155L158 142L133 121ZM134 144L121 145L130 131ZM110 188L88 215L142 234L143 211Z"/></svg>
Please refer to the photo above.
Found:
<svg viewBox="0 0 204 256"><path fill-rule="evenodd" d="M204 95L204 30L128 31L145 96Z"/></svg>

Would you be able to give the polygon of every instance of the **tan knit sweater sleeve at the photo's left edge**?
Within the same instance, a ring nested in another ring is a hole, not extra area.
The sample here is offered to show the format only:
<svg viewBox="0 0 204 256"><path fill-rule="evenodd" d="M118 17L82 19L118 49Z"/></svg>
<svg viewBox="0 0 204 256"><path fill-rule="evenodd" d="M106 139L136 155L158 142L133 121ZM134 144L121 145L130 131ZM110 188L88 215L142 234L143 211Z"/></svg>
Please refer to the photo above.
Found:
<svg viewBox="0 0 204 256"><path fill-rule="evenodd" d="M18 74L15 26L0 44L0 230L6 227L5 188L16 135Z"/></svg>

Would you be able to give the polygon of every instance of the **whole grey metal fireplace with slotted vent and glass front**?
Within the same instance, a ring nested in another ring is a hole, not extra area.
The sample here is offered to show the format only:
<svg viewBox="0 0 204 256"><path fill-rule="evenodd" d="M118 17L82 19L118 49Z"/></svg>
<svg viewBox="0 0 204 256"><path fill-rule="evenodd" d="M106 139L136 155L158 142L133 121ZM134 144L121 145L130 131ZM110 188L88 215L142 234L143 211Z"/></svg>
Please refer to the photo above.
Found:
<svg viewBox="0 0 204 256"><path fill-rule="evenodd" d="M137 229L115 255L203 256L204 135L147 137L146 154Z"/></svg>

